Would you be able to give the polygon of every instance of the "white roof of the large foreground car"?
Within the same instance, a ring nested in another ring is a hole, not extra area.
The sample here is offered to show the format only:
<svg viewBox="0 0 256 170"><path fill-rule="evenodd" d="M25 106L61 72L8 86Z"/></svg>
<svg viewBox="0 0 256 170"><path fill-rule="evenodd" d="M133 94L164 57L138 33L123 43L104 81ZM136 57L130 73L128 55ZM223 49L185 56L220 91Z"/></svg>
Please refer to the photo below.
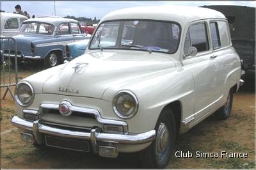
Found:
<svg viewBox="0 0 256 170"><path fill-rule="evenodd" d="M225 19L225 16L216 10L192 6L143 6L116 10L115 12L105 15L100 22L120 19L151 19L168 20L186 24L193 20L210 18Z"/></svg>

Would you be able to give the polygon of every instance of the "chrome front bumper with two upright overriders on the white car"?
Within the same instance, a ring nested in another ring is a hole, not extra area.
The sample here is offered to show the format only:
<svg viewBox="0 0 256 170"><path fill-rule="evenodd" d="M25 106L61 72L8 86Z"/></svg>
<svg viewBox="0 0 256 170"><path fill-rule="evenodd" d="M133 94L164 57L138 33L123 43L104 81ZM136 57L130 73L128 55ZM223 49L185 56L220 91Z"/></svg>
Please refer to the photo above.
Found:
<svg viewBox="0 0 256 170"><path fill-rule="evenodd" d="M98 144L99 142L108 144L141 145L140 147L137 147L137 150L140 151L144 149L143 147L147 147L154 140L156 135L156 130L150 130L136 135L100 133L99 128L94 128L91 132L79 132L43 125L40 123L40 120L34 122L26 121L18 116L14 116L11 122L15 127L31 131L38 144L42 143L40 134L54 135L56 137L69 139L83 139L90 141L94 153L99 152L99 148L101 147ZM118 148L116 149L118 150Z"/></svg>

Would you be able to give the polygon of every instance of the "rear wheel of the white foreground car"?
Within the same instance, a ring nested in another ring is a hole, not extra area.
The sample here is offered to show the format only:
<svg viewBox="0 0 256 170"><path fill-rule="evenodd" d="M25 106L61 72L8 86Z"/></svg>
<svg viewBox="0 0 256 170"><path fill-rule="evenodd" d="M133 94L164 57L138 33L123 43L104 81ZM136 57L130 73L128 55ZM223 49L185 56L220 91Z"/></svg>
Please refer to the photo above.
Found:
<svg viewBox="0 0 256 170"><path fill-rule="evenodd" d="M231 109L233 103L233 92L229 91L226 103L218 109L218 111L214 112L214 116L218 118L218 120L227 120L230 116Z"/></svg>

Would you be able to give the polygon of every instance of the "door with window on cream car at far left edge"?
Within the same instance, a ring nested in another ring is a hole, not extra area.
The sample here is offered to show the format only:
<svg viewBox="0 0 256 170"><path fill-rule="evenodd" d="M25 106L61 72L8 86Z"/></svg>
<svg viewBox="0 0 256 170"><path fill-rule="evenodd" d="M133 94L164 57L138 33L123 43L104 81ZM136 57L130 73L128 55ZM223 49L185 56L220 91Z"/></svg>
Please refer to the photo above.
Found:
<svg viewBox="0 0 256 170"><path fill-rule="evenodd" d="M15 36L19 33L19 21L17 17L12 17L4 22L4 36Z"/></svg>

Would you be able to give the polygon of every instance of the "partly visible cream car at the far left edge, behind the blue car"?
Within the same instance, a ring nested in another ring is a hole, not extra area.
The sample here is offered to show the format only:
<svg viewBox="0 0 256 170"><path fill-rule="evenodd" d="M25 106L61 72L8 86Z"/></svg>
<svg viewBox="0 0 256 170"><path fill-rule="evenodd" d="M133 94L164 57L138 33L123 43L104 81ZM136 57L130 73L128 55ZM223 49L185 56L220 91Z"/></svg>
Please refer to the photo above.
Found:
<svg viewBox="0 0 256 170"><path fill-rule="evenodd" d="M1 36L18 35L22 22L27 19L24 15L1 12Z"/></svg>

